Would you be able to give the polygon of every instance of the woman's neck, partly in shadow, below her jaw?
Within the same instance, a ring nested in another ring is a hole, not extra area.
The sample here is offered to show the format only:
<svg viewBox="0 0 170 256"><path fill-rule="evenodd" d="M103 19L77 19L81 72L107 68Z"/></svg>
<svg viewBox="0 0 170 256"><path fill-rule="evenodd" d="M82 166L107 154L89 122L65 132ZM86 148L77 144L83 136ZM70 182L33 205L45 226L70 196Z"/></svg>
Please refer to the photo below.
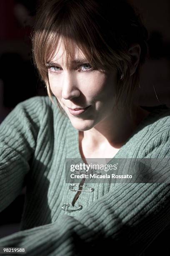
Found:
<svg viewBox="0 0 170 256"><path fill-rule="evenodd" d="M134 118L126 110L114 110L110 116L97 123L88 131L80 131L80 138L93 148L108 144L120 148L138 127L140 122L149 114L140 107L134 107ZM136 114L136 118L135 118Z"/></svg>

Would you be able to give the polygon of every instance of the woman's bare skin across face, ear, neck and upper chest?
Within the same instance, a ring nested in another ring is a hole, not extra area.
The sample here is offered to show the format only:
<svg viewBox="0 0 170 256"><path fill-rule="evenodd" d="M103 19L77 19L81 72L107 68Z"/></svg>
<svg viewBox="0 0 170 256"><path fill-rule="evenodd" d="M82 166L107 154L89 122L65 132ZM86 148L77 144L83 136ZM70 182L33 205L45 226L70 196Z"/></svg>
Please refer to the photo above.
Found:
<svg viewBox="0 0 170 256"><path fill-rule="evenodd" d="M132 46L131 75L138 66L140 48ZM75 49L75 59L84 57ZM73 127L79 131L80 152L83 157L112 158L133 133L137 125L149 112L134 105L137 110L135 123L130 120L127 110L114 108L117 86L116 70L103 73L92 70L91 66L72 64L65 68L66 56L62 41L58 44L53 59L55 66L48 69L50 88L67 113ZM88 61L84 61L84 64ZM85 71L83 71L85 70ZM72 115L68 108L90 108L82 115Z"/></svg>

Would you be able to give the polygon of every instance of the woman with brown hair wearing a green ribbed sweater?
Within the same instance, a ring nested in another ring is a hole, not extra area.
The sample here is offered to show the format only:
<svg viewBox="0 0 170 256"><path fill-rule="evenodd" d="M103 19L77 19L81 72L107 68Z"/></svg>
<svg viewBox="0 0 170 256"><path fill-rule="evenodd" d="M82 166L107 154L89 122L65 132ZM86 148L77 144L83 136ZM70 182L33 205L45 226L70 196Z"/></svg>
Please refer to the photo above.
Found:
<svg viewBox="0 0 170 256"><path fill-rule="evenodd" d="M147 38L125 1L42 3L33 54L49 97L21 102L0 126L1 210L27 186L21 231L0 239L1 247L28 255L142 255L167 228L170 110L149 113L135 94ZM67 159L91 158L161 158L167 181L65 182Z"/></svg>

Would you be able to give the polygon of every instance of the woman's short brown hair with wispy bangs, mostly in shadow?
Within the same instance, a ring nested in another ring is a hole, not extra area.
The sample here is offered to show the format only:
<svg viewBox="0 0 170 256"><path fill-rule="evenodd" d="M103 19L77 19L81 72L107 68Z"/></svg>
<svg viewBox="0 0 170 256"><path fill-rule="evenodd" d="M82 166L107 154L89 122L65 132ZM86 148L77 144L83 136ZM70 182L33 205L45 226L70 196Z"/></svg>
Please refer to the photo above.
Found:
<svg viewBox="0 0 170 256"><path fill-rule="evenodd" d="M46 0L41 3L32 34L32 51L51 100L46 63L55 53L60 38L68 56L67 67L70 67L74 46L78 46L93 68L117 69L115 105L124 97L124 106L131 115L140 67L148 52L148 31L134 8L125 0ZM132 44L139 44L141 53L136 72L130 76L128 50ZM58 101L57 104L62 110Z"/></svg>

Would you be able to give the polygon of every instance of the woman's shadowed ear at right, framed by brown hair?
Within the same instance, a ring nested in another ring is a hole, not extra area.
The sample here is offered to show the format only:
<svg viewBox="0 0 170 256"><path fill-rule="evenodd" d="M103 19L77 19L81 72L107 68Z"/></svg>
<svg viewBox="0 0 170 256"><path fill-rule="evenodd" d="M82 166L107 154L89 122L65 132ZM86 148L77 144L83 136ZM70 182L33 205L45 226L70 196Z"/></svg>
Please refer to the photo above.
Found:
<svg viewBox="0 0 170 256"><path fill-rule="evenodd" d="M131 59L132 59L132 65L130 67L130 76L132 76L139 64L139 60L140 60L140 45L139 44L133 44L130 49L129 49L129 53L131 55Z"/></svg>

